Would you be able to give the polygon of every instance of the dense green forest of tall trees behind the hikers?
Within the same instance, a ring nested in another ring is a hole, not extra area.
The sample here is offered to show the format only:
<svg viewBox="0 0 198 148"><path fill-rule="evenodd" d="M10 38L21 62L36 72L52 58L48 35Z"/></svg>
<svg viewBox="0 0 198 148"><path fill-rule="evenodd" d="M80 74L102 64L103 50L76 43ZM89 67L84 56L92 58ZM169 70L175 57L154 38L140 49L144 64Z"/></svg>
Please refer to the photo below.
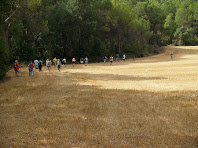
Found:
<svg viewBox="0 0 198 148"><path fill-rule="evenodd" d="M94 62L198 45L197 0L4 0L0 13L0 78L15 59Z"/></svg>

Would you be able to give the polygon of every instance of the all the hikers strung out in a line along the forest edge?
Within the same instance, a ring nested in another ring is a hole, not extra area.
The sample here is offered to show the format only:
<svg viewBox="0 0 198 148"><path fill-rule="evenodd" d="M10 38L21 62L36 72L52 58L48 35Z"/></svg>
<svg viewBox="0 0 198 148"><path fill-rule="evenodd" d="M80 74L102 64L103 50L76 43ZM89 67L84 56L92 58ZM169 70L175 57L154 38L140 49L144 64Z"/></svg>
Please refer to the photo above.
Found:
<svg viewBox="0 0 198 148"><path fill-rule="evenodd" d="M171 51L170 52L171 60L173 59L173 55L174 55L174 52ZM104 60L104 63L106 64L106 62L108 60L107 56L104 56L103 57L103 60ZM119 62L119 60L120 60L120 55L119 54L116 54L116 61ZM125 62L125 60L126 60L126 55L123 54L122 61ZM132 55L132 60L135 61L135 56L134 55ZM110 65L112 65L112 63L113 63L113 56L112 55L109 57L109 62L110 62ZM34 67L36 69L39 69L39 72L41 72L42 71L42 63L43 62L41 60L34 60L34 62L30 61L30 63L28 64L29 76L32 76L32 77L34 76ZM56 68L56 66L57 66L58 67L58 70L60 71L61 65L65 65L66 66L67 60L65 58L63 58L62 59L62 62L61 62L60 59L57 59L55 57L53 59L53 63L54 63L54 67ZM73 67L74 67L75 63L76 63L76 58L72 58L72 65L73 65ZM87 64L88 64L88 58L87 58L87 56L84 59L83 58L80 58L80 64L82 65L84 63L87 66ZM47 70L49 70L49 72L51 70L51 66L52 66L51 60L50 59L47 59L46 60L46 67L47 67ZM19 73L19 63L18 63L18 60L15 60L14 70L15 70L16 76L18 76L18 73Z"/></svg>

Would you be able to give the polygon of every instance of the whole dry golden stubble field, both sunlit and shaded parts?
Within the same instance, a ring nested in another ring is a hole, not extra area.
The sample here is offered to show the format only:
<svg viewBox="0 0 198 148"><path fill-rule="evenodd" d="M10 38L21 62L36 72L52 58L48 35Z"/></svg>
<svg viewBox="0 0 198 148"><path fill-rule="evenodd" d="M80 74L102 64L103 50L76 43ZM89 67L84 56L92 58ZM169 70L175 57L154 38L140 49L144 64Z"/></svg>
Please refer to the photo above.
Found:
<svg viewBox="0 0 198 148"><path fill-rule="evenodd" d="M111 66L10 70L0 83L0 147L197 148L198 46L164 48Z"/></svg>

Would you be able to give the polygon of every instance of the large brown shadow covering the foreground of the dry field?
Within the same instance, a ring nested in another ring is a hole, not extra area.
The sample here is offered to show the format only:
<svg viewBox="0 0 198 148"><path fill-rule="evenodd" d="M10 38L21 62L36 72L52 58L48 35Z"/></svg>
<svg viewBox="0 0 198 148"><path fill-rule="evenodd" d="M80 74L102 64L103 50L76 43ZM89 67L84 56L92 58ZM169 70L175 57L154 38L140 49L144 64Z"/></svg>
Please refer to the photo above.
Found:
<svg viewBox="0 0 198 148"><path fill-rule="evenodd" d="M76 77L40 75L13 83L17 90L2 86L1 146L195 147L197 92L106 90L75 85Z"/></svg>

